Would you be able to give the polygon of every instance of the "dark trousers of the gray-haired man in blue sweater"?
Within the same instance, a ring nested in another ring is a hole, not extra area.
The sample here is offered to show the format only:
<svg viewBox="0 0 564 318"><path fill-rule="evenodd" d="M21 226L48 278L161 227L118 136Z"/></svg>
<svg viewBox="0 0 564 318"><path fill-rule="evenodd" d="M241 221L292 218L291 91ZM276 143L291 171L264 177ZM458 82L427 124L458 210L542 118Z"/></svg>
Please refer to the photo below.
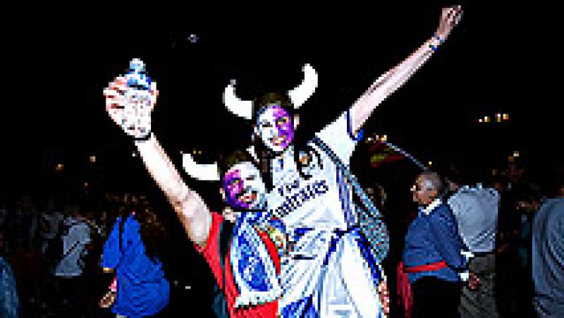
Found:
<svg viewBox="0 0 564 318"><path fill-rule="evenodd" d="M459 317L461 283L444 281L434 276L417 279L411 284L413 318Z"/></svg>

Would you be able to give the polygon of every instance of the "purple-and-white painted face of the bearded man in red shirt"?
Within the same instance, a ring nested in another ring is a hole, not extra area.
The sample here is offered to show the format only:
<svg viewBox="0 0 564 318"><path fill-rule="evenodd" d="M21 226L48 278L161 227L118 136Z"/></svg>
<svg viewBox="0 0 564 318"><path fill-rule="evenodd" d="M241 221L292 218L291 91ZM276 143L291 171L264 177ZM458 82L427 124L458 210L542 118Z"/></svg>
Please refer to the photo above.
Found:
<svg viewBox="0 0 564 318"><path fill-rule="evenodd" d="M259 170L248 162L235 164L223 176L226 203L235 209L262 209L266 187Z"/></svg>

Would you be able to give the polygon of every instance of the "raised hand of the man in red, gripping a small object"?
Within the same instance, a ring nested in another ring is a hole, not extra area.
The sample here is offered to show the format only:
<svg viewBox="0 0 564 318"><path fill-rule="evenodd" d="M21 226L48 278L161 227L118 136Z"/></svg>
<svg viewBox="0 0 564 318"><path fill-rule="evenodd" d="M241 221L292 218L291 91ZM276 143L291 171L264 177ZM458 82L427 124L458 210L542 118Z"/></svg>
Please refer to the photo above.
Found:
<svg viewBox="0 0 564 318"><path fill-rule="evenodd" d="M151 131L151 113L159 95L157 83L151 83L149 100L128 97L127 92L127 80L123 76L118 76L110 82L104 89L106 111L128 135L146 137Z"/></svg>

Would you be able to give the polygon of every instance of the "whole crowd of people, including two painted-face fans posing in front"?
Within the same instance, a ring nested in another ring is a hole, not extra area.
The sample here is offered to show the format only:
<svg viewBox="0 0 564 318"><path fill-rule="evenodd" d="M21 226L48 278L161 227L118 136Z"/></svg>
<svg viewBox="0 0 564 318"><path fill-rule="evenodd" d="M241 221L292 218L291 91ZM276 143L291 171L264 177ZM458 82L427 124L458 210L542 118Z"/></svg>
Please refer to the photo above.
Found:
<svg viewBox="0 0 564 318"><path fill-rule="evenodd" d="M219 164L183 156L188 176L220 181L223 211L181 177L152 131L156 82L133 59L104 90L106 111L173 212L155 212L142 195L6 200L3 316L176 315L168 247L178 241L167 237L167 213L213 274L217 317L563 314L561 179L536 184L515 161L479 184L425 168L410 188L414 204L398 214L384 185L371 200L350 169L364 123L430 59L460 12L444 8L430 39L307 141L298 109L317 87L312 66L287 94L243 101L228 85L227 109L252 121L250 147ZM388 231L392 219L405 228Z"/></svg>

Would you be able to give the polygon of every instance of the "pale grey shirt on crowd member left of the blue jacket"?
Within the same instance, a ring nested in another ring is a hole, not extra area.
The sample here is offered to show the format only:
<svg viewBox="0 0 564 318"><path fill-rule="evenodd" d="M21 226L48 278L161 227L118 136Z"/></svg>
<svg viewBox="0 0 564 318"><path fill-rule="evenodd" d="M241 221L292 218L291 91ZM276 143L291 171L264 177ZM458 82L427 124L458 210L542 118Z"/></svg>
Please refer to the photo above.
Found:
<svg viewBox="0 0 564 318"><path fill-rule="evenodd" d="M55 276L80 276L84 267L82 257L87 254L86 245L90 243L90 228L85 222L70 217L65 223L70 228L66 236L62 237L63 258L56 265Z"/></svg>

